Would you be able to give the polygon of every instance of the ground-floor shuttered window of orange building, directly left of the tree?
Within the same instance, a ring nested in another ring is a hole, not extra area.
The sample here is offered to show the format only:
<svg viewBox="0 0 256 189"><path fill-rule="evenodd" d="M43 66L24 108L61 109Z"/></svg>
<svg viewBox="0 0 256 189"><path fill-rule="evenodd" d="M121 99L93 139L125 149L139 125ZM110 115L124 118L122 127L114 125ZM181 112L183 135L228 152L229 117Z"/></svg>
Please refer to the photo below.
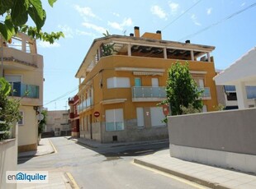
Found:
<svg viewBox="0 0 256 189"><path fill-rule="evenodd" d="M165 116L163 113L162 107L151 107L150 108L151 114L151 125L152 127L163 127L165 123L163 122Z"/></svg>

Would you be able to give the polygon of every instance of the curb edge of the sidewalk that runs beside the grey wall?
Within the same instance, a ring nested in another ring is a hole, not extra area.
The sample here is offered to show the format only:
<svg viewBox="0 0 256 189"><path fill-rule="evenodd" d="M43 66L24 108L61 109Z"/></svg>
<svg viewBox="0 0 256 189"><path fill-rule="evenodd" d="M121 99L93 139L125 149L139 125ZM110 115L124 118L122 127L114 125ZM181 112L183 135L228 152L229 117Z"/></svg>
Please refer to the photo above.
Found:
<svg viewBox="0 0 256 189"><path fill-rule="evenodd" d="M197 184L200 184L204 187L211 187L213 189L231 189L230 187L221 186L219 183L216 183L216 182L209 182L209 181L206 181L206 180L202 180L201 178L198 178L198 177L192 177L190 175L180 173L180 172L168 169L168 168L163 168L163 167L160 167L160 166L155 165L155 164L150 164L150 163L142 161L140 159L134 159L134 163L143 165L145 167L154 168L154 169L159 170L161 172L172 174L172 175L177 176L177 177L182 177L182 178L184 178L188 181L196 182Z"/></svg>

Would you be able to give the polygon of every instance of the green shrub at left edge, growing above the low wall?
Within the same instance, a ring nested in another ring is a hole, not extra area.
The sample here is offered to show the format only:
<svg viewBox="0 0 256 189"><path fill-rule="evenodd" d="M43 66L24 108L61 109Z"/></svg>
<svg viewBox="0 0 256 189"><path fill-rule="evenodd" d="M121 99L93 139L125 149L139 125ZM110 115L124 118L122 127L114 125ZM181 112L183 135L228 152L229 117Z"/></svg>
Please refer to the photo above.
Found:
<svg viewBox="0 0 256 189"><path fill-rule="evenodd" d="M0 141L8 138L13 122L21 120L20 103L16 99L9 99L11 85L0 78Z"/></svg>

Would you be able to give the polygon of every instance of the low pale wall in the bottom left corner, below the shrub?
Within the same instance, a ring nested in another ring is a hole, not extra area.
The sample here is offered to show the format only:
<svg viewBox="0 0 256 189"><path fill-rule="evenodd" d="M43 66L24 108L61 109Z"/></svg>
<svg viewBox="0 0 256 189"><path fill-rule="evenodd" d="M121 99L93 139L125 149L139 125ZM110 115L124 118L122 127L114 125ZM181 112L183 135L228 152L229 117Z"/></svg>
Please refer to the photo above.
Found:
<svg viewBox="0 0 256 189"><path fill-rule="evenodd" d="M6 172L17 171L17 125L12 128L13 139L0 141L0 188L17 188L6 183Z"/></svg>

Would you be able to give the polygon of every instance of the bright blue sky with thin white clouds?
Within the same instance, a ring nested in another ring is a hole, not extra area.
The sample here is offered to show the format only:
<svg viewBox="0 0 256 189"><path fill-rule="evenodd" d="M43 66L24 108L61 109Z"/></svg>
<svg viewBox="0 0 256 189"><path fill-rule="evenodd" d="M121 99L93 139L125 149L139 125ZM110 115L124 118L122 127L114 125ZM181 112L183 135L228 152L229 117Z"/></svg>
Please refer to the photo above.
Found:
<svg viewBox="0 0 256 189"><path fill-rule="evenodd" d="M43 30L62 30L65 35L53 45L37 41L38 53L44 56L45 63L45 108L66 108L68 98L78 92L78 79L74 77L78 67L93 39L102 37L106 30L112 35L130 35L134 26L140 26L140 35L161 30L164 40L190 39L192 44L215 46L212 53L215 66L225 69L256 44L255 3L255 0L58 0L52 8L44 1L47 19Z"/></svg>

